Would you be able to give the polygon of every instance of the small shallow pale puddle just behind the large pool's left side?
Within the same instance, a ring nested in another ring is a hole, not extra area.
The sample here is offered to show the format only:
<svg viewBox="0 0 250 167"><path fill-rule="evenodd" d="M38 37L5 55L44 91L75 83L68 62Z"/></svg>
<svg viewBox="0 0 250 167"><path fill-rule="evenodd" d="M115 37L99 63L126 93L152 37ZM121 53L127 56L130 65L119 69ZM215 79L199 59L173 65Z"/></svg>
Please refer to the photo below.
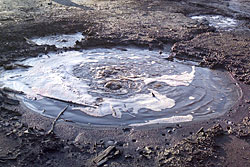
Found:
<svg viewBox="0 0 250 167"><path fill-rule="evenodd" d="M73 47L76 41L81 41L84 38L82 33L51 35L40 38L33 38L31 41L37 45L55 45L57 48Z"/></svg>

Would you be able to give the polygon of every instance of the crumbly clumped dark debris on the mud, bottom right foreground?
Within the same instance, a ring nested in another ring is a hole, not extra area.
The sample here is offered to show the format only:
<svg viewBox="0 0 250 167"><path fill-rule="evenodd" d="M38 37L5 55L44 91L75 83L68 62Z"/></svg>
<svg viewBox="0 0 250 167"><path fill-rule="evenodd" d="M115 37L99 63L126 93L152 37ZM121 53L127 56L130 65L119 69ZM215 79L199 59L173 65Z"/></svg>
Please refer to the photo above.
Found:
<svg viewBox="0 0 250 167"><path fill-rule="evenodd" d="M170 149L160 153L160 166L221 166L216 154L215 138L222 135L218 124L207 131L199 130Z"/></svg>

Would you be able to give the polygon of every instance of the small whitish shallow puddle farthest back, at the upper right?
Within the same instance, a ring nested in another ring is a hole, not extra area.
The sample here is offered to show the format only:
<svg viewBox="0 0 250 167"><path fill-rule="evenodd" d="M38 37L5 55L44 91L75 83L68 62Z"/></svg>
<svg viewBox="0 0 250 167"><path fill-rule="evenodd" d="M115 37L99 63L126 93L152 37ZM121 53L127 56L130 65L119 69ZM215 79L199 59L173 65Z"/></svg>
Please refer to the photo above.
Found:
<svg viewBox="0 0 250 167"><path fill-rule="evenodd" d="M220 15L199 15L192 16L191 18L199 22L208 22L210 26L222 30L232 30L238 25L237 20Z"/></svg>

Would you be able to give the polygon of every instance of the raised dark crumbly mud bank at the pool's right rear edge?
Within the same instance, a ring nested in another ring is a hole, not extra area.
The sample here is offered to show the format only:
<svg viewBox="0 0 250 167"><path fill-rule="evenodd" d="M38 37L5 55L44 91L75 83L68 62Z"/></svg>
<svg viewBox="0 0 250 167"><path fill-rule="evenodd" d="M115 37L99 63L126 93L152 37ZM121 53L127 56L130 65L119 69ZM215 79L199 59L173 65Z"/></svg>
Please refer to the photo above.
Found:
<svg viewBox="0 0 250 167"><path fill-rule="evenodd" d="M250 84L250 35L246 32L218 32L198 35L172 48L175 56L201 59L210 68L224 68L239 81Z"/></svg>

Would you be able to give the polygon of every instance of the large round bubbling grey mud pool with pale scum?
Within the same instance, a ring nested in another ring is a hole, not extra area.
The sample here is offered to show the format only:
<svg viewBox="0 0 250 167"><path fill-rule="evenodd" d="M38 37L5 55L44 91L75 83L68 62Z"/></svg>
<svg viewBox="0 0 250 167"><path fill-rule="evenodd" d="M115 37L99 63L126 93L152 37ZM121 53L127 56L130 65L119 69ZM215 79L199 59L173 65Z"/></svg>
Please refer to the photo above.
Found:
<svg viewBox="0 0 250 167"><path fill-rule="evenodd" d="M222 71L166 60L168 52L135 47L49 53L1 69L0 86L22 91L40 114L91 125L140 126L223 115L240 89Z"/></svg>

